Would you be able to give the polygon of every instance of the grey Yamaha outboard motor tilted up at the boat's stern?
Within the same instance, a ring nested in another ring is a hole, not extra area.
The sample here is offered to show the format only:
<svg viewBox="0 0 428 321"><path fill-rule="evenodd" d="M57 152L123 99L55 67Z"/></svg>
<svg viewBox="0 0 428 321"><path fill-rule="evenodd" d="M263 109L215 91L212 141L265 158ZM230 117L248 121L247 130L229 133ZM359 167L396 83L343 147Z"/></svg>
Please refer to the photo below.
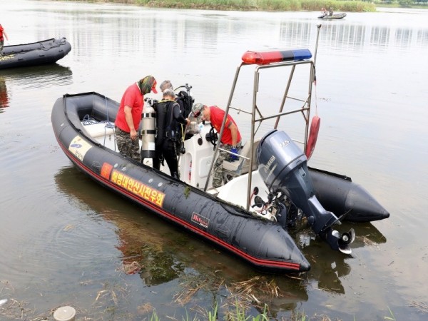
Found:
<svg viewBox="0 0 428 321"><path fill-rule="evenodd" d="M327 240L333 249L349 254L348 244L354 240L355 233L352 230L340 235L332 230L332 225L340 221L317 200L305 153L290 136L283 131L270 131L258 144L256 153L259 173L270 192L285 194L302 210L317 235Z"/></svg>

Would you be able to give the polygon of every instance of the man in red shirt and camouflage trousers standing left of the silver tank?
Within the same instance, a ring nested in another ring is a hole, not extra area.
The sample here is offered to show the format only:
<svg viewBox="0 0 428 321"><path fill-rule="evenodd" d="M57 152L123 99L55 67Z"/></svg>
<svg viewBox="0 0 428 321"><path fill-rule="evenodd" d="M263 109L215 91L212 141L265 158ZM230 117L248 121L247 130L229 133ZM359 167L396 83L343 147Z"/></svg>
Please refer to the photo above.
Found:
<svg viewBox="0 0 428 321"><path fill-rule="evenodd" d="M116 143L122 155L141 161L138 127L144 107L144 95L156 91L156 79L146 76L129 86L123 93L116 116Z"/></svg>

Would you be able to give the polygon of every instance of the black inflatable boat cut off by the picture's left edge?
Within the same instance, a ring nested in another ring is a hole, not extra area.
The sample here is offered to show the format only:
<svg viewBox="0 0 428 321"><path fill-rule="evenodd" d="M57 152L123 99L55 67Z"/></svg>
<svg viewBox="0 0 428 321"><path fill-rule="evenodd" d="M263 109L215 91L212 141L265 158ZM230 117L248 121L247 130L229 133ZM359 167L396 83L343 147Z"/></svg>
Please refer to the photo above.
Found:
<svg viewBox="0 0 428 321"><path fill-rule="evenodd" d="M70 51L71 44L65 38L5 46L0 56L0 69L55 63Z"/></svg>

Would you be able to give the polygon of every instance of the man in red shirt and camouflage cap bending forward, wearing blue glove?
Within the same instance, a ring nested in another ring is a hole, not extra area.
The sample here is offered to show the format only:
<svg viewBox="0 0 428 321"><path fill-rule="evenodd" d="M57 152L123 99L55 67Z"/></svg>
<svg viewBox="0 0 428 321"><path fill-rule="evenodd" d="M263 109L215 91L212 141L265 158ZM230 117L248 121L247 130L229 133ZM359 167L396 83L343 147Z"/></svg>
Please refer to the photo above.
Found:
<svg viewBox="0 0 428 321"><path fill-rule="evenodd" d="M215 128L215 131L220 133L225 111L218 106L206 106L202 103L195 103L192 108L193 115L198 117L198 113L202 113L203 121L210 121L211 125ZM238 154L238 150L241 146L241 136L232 116L228 115L225 123L225 130L220 141L220 148L230 151L231 153ZM215 160L213 166L213 188L218 188L223 185L223 161L226 158L230 158L233 161L238 160L238 156L227 153L225 151L219 151L218 158Z"/></svg>

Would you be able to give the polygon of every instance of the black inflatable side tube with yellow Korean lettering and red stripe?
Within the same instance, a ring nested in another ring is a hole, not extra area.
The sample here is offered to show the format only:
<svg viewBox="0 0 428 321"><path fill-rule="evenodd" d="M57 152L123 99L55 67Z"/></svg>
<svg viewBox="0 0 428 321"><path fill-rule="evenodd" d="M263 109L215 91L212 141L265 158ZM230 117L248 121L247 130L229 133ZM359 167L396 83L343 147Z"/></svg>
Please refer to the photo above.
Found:
<svg viewBox="0 0 428 321"><path fill-rule="evenodd" d="M64 95L52 109L66 156L104 187L180 225L266 272L304 272L310 264L280 225L101 146L81 119L114 121L118 103L98 93Z"/></svg>

